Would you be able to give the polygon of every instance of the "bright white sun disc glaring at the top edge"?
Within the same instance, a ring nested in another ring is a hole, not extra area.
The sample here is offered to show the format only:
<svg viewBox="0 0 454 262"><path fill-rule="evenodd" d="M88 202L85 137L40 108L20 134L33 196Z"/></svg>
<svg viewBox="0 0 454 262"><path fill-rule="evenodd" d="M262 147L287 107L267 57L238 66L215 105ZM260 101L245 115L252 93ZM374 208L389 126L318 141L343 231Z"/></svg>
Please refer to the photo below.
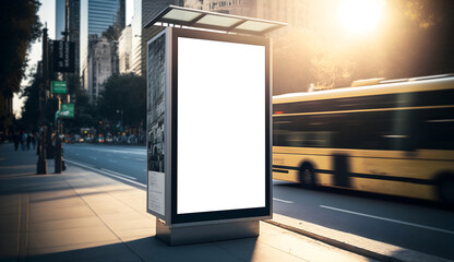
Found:
<svg viewBox="0 0 454 262"><path fill-rule="evenodd" d="M362 34L375 28L383 5L383 0L344 0L339 4L338 16L347 31Z"/></svg>

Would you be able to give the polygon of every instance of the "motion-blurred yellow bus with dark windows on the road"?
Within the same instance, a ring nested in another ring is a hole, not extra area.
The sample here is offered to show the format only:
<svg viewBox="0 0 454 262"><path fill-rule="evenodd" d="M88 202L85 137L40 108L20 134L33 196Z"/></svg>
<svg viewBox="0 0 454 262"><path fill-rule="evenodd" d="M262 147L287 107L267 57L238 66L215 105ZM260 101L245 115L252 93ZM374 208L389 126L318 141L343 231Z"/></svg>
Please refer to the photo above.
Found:
<svg viewBox="0 0 454 262"><path fill-rule="evenodd" d="M454 76L353 86L273 97L273 178L454 203Z"/></svg>

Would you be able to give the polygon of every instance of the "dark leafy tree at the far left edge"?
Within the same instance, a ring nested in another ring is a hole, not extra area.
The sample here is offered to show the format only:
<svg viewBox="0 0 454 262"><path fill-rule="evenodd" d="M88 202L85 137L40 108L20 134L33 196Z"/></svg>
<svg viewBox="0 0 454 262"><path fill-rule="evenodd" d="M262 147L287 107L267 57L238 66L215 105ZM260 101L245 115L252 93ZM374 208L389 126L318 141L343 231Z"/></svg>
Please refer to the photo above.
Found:
<svg viewBox="0 0 454 262"><path fill-rule="evenodd" d="M31 43L40 36L37 0L0 1L0 100L11 99L20 91L27 66ZM8 110L0 107L0 126L9 122ZM5 128L5 127L0 127Z"/></svg>

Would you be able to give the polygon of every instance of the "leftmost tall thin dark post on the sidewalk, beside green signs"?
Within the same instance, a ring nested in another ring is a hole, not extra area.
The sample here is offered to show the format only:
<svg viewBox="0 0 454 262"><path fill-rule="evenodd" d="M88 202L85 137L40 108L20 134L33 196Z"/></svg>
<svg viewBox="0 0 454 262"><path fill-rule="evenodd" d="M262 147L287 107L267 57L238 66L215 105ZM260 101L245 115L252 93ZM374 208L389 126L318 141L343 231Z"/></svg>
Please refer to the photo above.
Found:
<svg viewBox="0 0 454 262"><path fill-rule="evenodd" d="M38 142L38 163L36 165L36 172L38 175L47 174L47 162L46 162L46 105L47 105L47 80L48 80L48 38L47 27L43 29L43 82L39 86L39 142Z"/></svg>

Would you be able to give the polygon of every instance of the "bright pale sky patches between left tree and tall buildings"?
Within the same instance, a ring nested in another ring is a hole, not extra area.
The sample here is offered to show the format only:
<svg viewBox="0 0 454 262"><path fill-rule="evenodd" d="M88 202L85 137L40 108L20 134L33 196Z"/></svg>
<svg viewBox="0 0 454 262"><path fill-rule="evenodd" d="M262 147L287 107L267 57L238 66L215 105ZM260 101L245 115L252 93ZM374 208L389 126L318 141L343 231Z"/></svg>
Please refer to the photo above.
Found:
<svg viewBox="0 0 454 262"><path fill-rule="evenodd" d="M87 1L87 0L81 0L81 1ZM41 5L39 7L39 11L38 11L39 20L41 21L43 25L47 24L47 28L49 29L48 31L49 38L52 39L56 36L56 33L55 33L56 0L40 0L40 2L41 2ZM134 10L133 9L134 1L126 0L126 2L127 2L126 24L129 25L131 24L132 12ZM32 48L28 51L29 61L28 61L26 75L28 75L29 70L35 68L38 61L41 59L41 52L43 52L41 38L39 38L32 45ZM24 88L25 86L27 86L29 81L31 81L29 79L23 80L21 83L21 87ZM21 116L23 103L24 103L23 99L20 98L20 94L14 94L13 112L16 117Z"/></svg>

